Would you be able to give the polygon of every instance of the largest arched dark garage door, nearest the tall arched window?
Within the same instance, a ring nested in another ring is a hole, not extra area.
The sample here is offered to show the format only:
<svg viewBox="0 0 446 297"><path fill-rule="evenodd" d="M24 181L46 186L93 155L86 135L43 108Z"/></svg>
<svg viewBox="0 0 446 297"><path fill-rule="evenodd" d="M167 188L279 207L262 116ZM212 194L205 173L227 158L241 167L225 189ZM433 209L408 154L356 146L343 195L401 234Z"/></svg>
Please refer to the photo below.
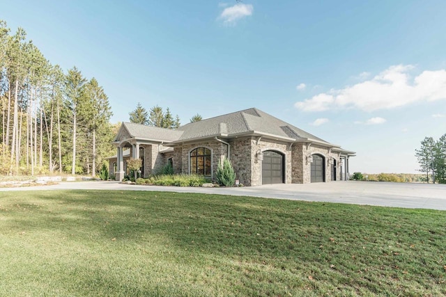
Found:
<svg viewBox="0 0 446 297"><path fill-rule="evenodd" d="M278 152L263 152L262 184L282 184L284 182L284 156Z"/></svg>

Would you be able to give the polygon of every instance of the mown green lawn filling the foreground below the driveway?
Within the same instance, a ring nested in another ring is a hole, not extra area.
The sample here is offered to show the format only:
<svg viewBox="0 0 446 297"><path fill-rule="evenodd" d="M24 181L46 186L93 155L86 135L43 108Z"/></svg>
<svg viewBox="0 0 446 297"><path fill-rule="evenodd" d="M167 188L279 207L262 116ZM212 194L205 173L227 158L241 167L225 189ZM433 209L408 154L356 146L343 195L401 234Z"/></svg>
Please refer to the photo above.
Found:
<svg viewBox="0 0 446 297"><path fill-rule="evenodd" d="M3 192L0 296L444 296L446 212Z"/></svg>

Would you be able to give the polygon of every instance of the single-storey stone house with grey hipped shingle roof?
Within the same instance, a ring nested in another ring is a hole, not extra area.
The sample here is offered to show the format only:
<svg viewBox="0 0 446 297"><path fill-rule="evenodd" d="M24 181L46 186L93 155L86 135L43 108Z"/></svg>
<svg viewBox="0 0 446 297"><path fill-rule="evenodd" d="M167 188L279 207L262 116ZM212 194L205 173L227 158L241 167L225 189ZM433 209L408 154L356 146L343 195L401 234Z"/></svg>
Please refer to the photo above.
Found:
<svg viewBox="0 0 446 297"><path fill-rule="evenodd" d="M141 175L171 163L176 173L215 179L218 163L229 158L236 178L246 186L306 184L348 179L355 152L341 149L259 109L246 109L176 130L123 122L109 158L117 180L128 174L126 160L143 162Z"/></svg>

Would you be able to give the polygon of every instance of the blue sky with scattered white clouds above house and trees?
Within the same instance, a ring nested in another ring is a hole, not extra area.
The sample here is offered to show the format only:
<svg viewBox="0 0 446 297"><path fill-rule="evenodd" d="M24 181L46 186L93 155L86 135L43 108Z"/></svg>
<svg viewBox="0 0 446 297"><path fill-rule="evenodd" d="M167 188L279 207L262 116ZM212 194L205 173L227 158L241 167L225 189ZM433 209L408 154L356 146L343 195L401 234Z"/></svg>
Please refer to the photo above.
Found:
<svg viewBox="0 0 446 297"><path fill-rule="evenodd" d="M351 172L417 172L446 133L446 1L3 1L0 19L64 70L210 118L256 107L357 152Z"/></svg>

